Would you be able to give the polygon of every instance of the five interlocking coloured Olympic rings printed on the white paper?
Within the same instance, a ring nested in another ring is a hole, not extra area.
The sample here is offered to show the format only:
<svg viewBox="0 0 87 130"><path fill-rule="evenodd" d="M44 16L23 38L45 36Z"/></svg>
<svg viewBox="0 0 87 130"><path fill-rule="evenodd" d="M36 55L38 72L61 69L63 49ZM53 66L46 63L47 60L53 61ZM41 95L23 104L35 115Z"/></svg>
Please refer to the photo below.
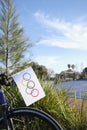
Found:
<svg viewBox="0 0 87 130"><path fill-rule="evenodd" d="M37 97L39 95L39 90L35 88L35 83L31 80L31 75L29 73L23 74L22 85L26 87L25 92L32 97Z"/></svg>

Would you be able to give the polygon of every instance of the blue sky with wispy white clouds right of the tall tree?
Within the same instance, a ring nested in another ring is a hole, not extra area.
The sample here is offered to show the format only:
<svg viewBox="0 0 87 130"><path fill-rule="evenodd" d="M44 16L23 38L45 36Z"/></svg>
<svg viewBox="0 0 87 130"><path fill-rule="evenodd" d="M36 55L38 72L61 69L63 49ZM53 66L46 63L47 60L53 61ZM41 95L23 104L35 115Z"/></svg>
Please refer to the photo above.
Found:
<svg viewBox="0 0 87 130"><path fill-rule="evenodd" d="M32 61L55 73L87 67L87 0L15 0Z"/></svg>

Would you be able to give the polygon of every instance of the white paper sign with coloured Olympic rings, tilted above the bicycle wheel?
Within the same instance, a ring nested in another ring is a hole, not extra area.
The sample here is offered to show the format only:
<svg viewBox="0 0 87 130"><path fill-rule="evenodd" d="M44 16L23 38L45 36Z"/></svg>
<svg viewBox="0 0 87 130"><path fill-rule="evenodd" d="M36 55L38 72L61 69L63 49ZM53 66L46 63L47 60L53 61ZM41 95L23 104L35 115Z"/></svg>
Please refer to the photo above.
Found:
<svg viewBox="0 0 87 130"><path fill-rule="evenodd" d="M32 67L12 75L27 106L45 97L45 93Z"/></svg>

